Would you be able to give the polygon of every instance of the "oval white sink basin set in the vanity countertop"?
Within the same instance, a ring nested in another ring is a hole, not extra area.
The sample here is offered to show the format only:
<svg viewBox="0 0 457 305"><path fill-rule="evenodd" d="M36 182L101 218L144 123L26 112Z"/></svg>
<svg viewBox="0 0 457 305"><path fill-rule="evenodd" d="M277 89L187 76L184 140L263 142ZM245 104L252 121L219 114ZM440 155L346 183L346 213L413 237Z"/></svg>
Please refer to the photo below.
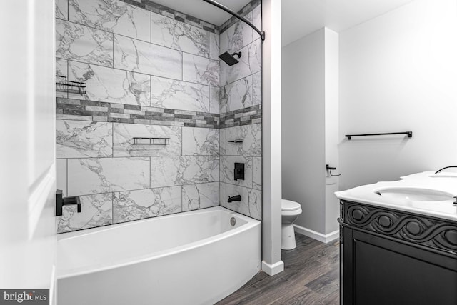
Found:
<svg viewBox="0 0 457 305"><path fill-rule="evenodd" d="M412 201L446 201L453 200L453 195L445 191L416 188L386 188L375 191L379 196L391 199L407 199Z"/></svg>

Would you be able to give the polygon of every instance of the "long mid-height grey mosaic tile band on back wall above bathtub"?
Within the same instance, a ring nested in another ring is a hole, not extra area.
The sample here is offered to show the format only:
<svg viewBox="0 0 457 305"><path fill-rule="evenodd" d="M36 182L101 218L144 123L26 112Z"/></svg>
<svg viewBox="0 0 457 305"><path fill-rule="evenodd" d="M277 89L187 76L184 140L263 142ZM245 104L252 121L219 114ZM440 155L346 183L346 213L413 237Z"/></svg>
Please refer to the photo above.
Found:
<svg viewBox="0 0 457 305"><path fill-rule="evenodd" d="M219 114L57 98L57 119L219 128Z"/></svg>

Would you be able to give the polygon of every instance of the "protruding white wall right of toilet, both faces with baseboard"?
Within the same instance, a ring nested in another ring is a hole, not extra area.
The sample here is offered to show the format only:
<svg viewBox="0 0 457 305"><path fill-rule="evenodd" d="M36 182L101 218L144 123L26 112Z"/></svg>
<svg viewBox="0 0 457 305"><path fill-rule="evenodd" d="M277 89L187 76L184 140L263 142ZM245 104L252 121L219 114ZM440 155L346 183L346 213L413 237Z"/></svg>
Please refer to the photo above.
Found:
<svg viewBox="0 0 457 305"><path fill-rule="evenodd" d="M283 47L283 199L303 213L296 230L321 241L338 237L338 34L320 29ZM335 174L336 171L333 172Z"/></svg>

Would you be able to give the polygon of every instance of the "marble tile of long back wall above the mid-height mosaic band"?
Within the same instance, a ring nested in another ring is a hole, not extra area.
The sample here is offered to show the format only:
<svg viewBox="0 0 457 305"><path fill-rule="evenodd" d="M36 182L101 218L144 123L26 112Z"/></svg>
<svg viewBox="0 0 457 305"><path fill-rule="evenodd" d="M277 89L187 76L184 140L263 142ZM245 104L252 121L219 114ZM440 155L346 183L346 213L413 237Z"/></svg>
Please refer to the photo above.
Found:
<svg viewBox="0 0 457 305"><path fill-rule="evenodd" d="M163 6L155 11L119 0L56 1L56 73L87 85L82 96L59 97L219 114L219 33Z"/></svg>

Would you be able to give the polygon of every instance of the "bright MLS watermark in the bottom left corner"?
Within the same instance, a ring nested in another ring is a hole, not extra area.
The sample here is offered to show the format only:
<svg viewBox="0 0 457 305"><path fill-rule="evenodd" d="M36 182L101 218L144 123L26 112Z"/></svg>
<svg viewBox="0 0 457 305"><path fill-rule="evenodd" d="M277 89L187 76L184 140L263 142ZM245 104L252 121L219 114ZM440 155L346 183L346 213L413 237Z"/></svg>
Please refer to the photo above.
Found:
<svg viewBox="0 0 457 305"><path fill-rule="evenodd" d="M48 305L49 289L0 289L0 305Z"/></svg>

